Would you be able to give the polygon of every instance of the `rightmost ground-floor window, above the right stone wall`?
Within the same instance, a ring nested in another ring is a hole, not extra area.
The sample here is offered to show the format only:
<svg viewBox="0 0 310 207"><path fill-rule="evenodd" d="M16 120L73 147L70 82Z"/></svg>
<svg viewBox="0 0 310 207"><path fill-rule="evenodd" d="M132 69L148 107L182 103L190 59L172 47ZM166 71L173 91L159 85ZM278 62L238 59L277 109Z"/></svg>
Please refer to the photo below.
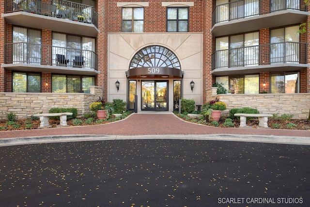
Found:
<svg viewBox="0 0 310 207"><path fill-rule="evenodd" d="M270 74L271 94L299 93L299 72L282 72Z"/></svg>

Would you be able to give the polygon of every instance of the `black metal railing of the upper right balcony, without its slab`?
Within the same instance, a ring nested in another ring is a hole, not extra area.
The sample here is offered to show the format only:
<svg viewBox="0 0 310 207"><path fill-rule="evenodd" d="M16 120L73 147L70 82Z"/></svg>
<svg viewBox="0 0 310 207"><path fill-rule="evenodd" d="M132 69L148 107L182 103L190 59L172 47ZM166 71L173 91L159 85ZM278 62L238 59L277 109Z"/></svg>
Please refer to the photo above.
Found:
<svg viewBox="0 0 310 207"><path fill-rule="evenodd" d="M217 5L212 12L212 25L249 16L261 15L261 0L238 0ZM270 1L270 12L281 10L307 11L301 0L273 0Z"/></svg>

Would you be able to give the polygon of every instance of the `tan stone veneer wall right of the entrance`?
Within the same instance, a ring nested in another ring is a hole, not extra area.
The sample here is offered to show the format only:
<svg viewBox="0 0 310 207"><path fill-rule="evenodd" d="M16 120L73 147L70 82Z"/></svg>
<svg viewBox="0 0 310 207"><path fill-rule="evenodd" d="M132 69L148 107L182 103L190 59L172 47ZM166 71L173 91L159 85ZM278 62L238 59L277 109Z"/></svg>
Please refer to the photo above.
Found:
<svg viewBox="0 0 310 207"><path fill-rule="evenodd" d="M216 97L227 105L223 115L228 115L233 108L250 107L260 113L292 114L294 119L308 119L310 110L310 93L301 94L216 94L217 87L207 89L208 100ZM209 96L212 94L211 96Z"/></svg>

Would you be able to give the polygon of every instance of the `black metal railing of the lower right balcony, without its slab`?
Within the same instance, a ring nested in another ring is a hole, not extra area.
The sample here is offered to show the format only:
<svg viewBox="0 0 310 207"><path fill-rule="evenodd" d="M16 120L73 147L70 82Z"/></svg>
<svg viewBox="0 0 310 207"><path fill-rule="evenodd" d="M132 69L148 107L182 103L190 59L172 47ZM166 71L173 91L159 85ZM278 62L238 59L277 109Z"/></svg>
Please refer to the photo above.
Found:
<svg viewBox="0 0 310 207"><path fill-rule="evenodd" d="M266 64L307 64L307 44L272 43L217 50L212 54L212 70Z"/></svg>

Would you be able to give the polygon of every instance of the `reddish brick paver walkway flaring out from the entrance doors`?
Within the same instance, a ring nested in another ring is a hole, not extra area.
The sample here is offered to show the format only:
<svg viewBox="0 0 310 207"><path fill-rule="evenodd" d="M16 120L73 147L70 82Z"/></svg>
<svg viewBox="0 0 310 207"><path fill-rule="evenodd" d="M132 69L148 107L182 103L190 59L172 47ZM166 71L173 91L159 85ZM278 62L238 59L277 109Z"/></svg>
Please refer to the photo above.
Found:
<svg viewBox="0 0 310 207"><path fill-rule="evenodd" d="M125 120L110 124L1 131L0 138L20 138L52 135L188 135L188 134L244 134L310 137L310 130L209 127L180 120L173 114L132 114Z"/></svg>

